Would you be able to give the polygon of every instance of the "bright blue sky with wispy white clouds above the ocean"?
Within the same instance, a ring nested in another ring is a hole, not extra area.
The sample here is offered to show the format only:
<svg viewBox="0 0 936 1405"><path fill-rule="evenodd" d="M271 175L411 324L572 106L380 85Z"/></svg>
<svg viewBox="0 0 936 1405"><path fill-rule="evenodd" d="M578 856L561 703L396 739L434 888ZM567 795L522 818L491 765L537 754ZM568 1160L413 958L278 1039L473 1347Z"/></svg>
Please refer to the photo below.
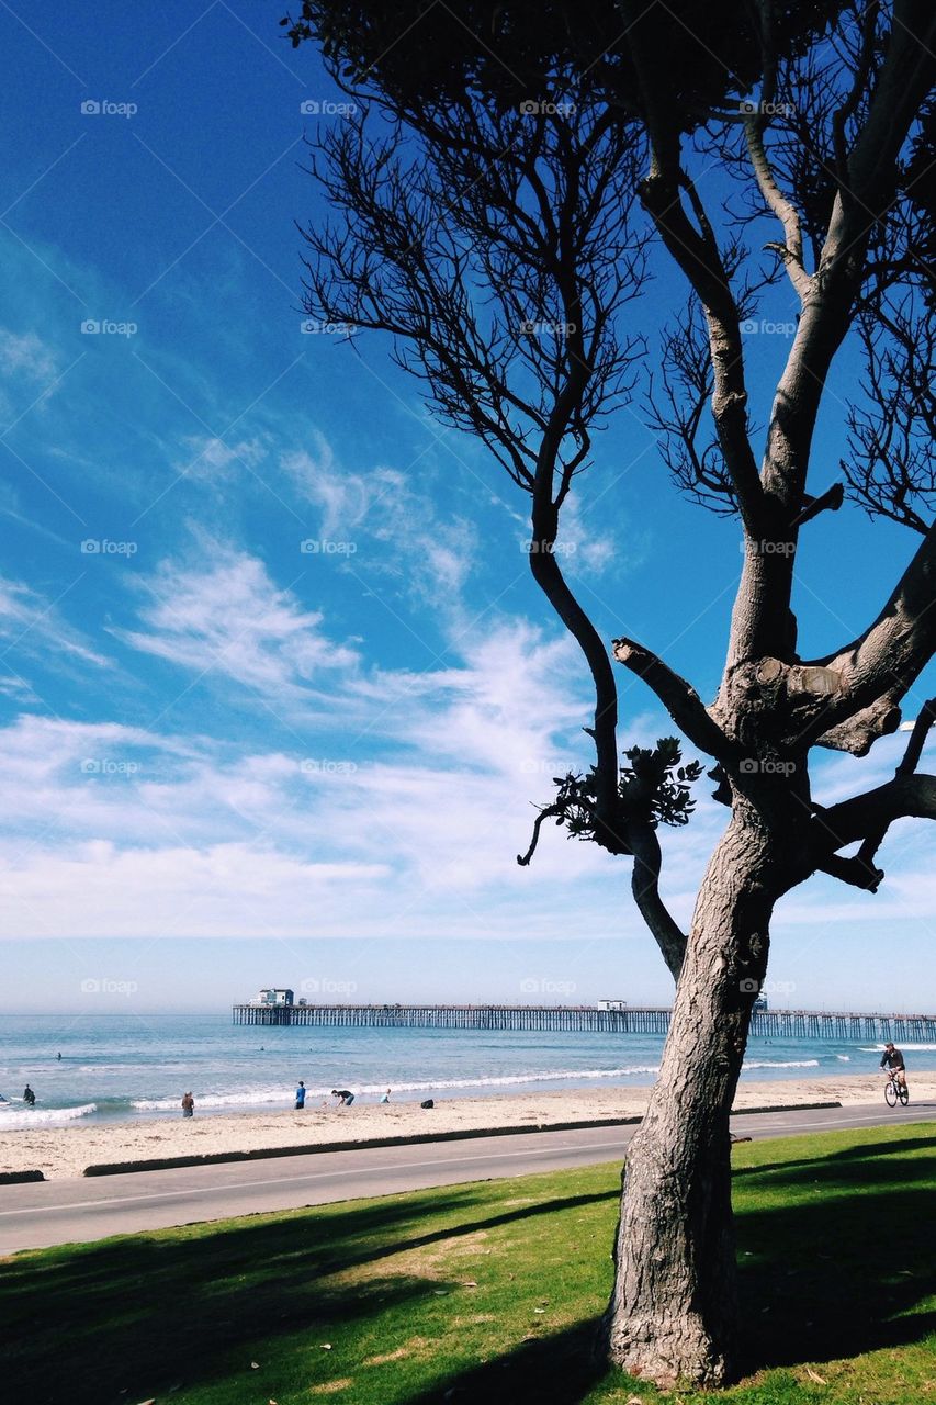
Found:
<svg viewBox="0 0 936 1405"><path fill-rule="evenodd" d="M301 111L336 94L278 17L0 10L0 1000L207 1009L305 982L665 1002L627 864L555 830L514 861L531 802L589 762L527 500L427 417L381 339L302 330L294 221L322 216L302 138L342 118ZM628 316L652 332L677 298L661 270ZM762 313L787 325L786 289ZM760 322L749 339L762 420L787 347ZM846 353L817 489L854 374ZM669 486L638 409L597 440L564 544L602 632L710 697L738 530ZM859 632L914 548L854 507L810 525L804 655ZM621 684L624 745L672 731ZM819 754L817 795L878 783L899 746ZM724 819L701 787L663 836L682 920ZM784 901L774 1003L936 1007L929 843L897 826L874 898L814 880Z"/></svg>

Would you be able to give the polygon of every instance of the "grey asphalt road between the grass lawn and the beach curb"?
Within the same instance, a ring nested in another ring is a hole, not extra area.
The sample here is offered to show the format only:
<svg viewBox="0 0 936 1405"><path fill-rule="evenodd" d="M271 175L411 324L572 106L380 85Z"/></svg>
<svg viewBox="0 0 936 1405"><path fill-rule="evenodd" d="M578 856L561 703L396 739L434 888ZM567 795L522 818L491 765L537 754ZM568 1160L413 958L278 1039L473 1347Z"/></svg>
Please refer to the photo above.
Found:
<svg viewBox="0 0 936 1405"><path fill-rule="evenodd" d="M762 1141L798 1132L936 1121L936 1103L888 1111L829 1107L732 1118L739 1137ZM416 1146L277 1156L176 1170L0 1186L0 1255L56 1243L86 1243L114 1234L160 1229L200 1220L323 1205L467 1180L496 1180L534 1170L590 1166L623 1156L635 1131L594 1127L568 1132L472 1137Z"/></svg>

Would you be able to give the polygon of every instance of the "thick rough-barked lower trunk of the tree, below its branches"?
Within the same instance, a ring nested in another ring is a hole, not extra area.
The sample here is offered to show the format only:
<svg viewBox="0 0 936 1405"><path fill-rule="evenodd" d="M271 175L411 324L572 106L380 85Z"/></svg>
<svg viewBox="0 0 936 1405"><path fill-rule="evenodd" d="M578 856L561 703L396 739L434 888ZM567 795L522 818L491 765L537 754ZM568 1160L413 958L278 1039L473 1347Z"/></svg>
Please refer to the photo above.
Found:
<svg viewBox="0 0 936 1405"><path fill-rule="evenodd" d="M661 1385L720 1385L735 1370L728 1116L781 888L769 836L735 813L698 895L659 1080L630 1145L604 1318L611 1361Z"/></svg>

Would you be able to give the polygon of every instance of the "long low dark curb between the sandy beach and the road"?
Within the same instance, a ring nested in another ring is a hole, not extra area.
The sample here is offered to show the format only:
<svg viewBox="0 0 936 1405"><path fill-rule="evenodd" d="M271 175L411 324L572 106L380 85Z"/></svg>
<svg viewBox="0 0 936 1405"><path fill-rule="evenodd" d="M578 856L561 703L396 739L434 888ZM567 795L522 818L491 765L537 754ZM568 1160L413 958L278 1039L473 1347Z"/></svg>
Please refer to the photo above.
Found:
<svg viewBox="0 0 936 1405"><path fill-rule="evenodd" d="M800 1113L811 1109L840 1107L840 1103L787 1103L783 1107L742 1107L734 1116L749 1113ZM254 1151L216 1151L200 1156L163 1156L155 1161L114 1161L86 1166L84 1176L124 1176L136 1170L177 1170L184 1166L216 1166L223 1162L271 1161L277 1156L312 1156L332 1151L372 1151L375 1146L420 1146L427 1142L469 1141L475 1137L517 1137L524 1132L573 1132L587 1127L628 1127L639 1117L600 1117L575 1123L523 1123L517 1127L460 1128L453 1132L412 1132L408 1137L367 1137L363 1141L312 1142L304 1146L259 1146ZM32 1179L31 1173L30 1179ZM41 1179L41 1177L39 1177Z"/></svg>

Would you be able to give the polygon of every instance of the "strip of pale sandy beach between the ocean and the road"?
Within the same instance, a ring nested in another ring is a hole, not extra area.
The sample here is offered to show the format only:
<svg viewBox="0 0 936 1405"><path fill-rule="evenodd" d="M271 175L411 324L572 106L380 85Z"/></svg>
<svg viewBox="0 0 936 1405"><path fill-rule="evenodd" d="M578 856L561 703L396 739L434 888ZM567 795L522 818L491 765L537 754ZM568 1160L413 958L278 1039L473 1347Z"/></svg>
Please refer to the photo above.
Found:
<svg viewBox="0 0 936 1405"><path fill-rule="evenodd" d="M874 1075L784 1082L745 1082L735 1109L781 1107L791 1103L880 1103L883 1079ZM304 1113L235 1113L191 1120L91 1123L84 1127L37 1127L0 1131L0 1170L41 1170L46 1180L82 1176L87 1166L202 1156L218 1152L315 1146L336 1141L426 1132L482 1131L496 1127L548 1127L569 1121L639 1117L649 1087L589 1087L550 1093L512 1093L438 1102L431 1110L417 1103L308 1107ZM915 1106L933 1104L936 1073L911 1079Z"/></svg>

